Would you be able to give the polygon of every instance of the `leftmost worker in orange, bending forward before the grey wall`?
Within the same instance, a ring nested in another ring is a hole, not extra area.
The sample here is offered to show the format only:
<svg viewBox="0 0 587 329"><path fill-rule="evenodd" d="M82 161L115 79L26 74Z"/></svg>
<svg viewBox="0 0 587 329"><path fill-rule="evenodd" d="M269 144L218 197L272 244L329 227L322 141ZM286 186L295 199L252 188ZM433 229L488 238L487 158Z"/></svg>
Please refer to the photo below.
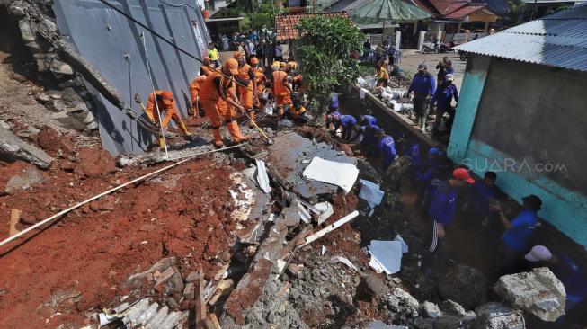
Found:
<svg viewBox="0 0 587 329"><path fill-rule="evenodd" d="M155 100L157 100L157 106L155 106ZM191 136L191 133L185 127L185 123L183 123L180 112L177 111L172 92L168 90L156 90L155 95L151 93L147 98L147 107L145 108L145 111L147 111L147 117L159 127L159 113L157 107L159 108L159 111L165 111L165 116L161 119L161 126L163 129L167 129L169 121L173 120L182 130L183 135ZM159 138L159 147L165 147L165 138Z"/></svg>

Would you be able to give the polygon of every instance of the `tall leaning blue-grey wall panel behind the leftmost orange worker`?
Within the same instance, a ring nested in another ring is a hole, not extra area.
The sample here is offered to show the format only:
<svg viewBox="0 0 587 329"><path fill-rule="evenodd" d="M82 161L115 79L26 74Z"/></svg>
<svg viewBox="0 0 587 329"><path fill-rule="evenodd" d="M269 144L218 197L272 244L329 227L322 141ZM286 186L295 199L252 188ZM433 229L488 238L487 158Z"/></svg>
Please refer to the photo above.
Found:
<svg viewBox="0 0 587 329"><path fill-rule="evenodd" d="M185 0L116 0L111 1L125 13L171 40L192 55L201 58L202 46L209 40L208 31L200 10L183 4ZM165 4L167 3L167 4ZM189 1L187 2L189 3ZM178 4L178 5L170 5ZM195 4L195 2L194 2ZM147 57L153 70L154 84L158 89L170 89L178 107L186 114L182 90L188 93L191 80L200 70L200 63L157 39L120 13L97 0L56 0L54 11L59 31L75 49L96 67L114 87L122 99L135 111L142 112L133 100L141 95L147 102L151 91L143 44L139 33L147 42ZM197 22L193 29L191 22ZM129 55L129 59L125 55ZM94 113L100 123L104 147L113 155L141 153L151 143L151 134L129 120L110 102L97 94Z"/></svg>

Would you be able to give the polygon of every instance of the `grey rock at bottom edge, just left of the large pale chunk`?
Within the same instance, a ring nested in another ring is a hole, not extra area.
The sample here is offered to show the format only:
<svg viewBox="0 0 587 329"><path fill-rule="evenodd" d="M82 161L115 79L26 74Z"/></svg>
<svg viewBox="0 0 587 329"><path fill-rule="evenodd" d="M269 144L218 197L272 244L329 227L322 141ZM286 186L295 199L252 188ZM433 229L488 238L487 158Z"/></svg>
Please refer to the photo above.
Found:
<svg viewBox="0 0 587 329"><path fill-rule="evenodd" d="M479 329L525 329L521 311L505 307L500 303L487 303L476 310L476 328Z"/></svg>

